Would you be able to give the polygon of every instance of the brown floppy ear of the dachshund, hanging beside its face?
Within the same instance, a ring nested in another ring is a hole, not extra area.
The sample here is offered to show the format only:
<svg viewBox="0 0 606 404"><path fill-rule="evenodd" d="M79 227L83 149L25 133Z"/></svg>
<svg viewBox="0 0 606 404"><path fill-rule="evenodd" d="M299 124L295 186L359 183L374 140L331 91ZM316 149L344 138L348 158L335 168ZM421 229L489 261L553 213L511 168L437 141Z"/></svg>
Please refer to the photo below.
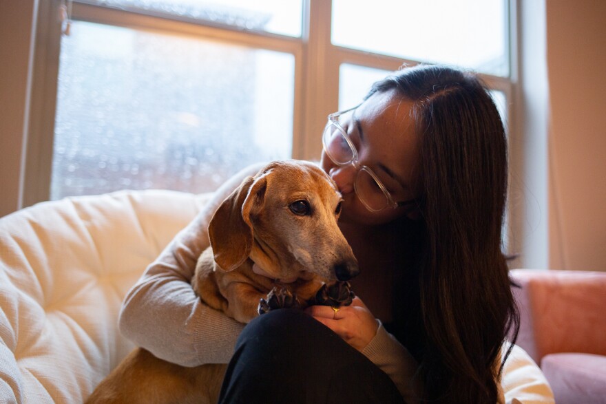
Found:
<svg viewBox="0 0 606 404"><path fill-rule="evenodd" d="M209 224L215 262L223 270L234 270L247 259L253 246L251 209L264 199L267 178L249 177L219 206Z"/></svg>

